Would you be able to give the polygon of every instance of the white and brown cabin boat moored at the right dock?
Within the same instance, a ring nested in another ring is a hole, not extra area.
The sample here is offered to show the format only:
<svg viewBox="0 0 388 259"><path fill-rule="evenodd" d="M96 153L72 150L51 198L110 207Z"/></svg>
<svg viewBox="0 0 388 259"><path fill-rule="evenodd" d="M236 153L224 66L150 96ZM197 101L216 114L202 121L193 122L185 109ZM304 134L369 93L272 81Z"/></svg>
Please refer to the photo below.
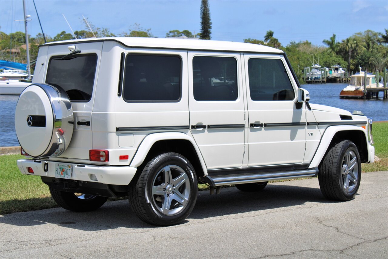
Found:
<svg viewBox="0 0 388 259"><path fill-rule="evenodd" d="M363 98L364 97L365 72L360 71L350 76L350 83L340 92L340 98ZM384 87L383 83L376 80L376 75L367 73L366 88ZM376 92L366 92L367 98L376 95Z"/></svg>

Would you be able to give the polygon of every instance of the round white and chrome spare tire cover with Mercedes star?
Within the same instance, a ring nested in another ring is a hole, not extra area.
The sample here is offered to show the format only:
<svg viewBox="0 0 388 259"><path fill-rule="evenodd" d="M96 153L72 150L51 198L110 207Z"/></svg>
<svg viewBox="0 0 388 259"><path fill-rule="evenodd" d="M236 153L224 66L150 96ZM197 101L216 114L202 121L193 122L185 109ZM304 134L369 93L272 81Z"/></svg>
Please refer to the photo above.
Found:
<svg viewBox="0 0 388 259"><path fill-rule="evenodd" d="M71 101L58 86L34 83L20 94L15 129L20 146L36 158L61 155L74 129Z"/></svg>

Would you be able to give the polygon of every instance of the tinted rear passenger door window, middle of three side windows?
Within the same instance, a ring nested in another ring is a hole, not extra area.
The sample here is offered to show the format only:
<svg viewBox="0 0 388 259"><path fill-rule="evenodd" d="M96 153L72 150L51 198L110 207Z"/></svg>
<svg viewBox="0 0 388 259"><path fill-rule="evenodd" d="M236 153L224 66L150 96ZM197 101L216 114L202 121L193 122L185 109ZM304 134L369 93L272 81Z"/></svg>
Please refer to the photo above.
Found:
<svg viewBox="0 0 388 259"><path fill-rule="evenodd" d="M193 90L197 101L237 99L237 61L233 57L193 58Z"/></svg>

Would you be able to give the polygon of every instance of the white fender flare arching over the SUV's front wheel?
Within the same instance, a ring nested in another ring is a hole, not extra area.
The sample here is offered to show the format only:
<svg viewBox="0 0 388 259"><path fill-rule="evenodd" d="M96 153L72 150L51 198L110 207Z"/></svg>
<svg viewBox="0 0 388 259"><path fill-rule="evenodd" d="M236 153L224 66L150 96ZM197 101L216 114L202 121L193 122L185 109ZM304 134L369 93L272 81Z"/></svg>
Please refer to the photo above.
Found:
<svg viewBox="0 0 388 259"><path fill-rule="evenodd" d="M318 167L319 166L319 163L321 162L322 158L324 157L325 153L326 153L326 150L327 148L329 147L330 143L331 143L331 140L333 139L334 135L337 133L337 132L340 132L340 131L354 131L354 130L358 130L358 131L361 131L364 133L365 135L365 141L367 141L368 137L367 137L367 134L366 134L366 130L359 127L359 126L355 126L355 125L338 125L338 126L330 126L330 127L327 127L326 130L324 131L323 133L323 136L320 140L320 143L319 143L319 146L318 146L318 149L317 151L315 152L315 155L313 157L313 160L311 161L310 163L310 166L309 168L313 168L313 167ZM370 150L369 150L369 144L366 143L366 146L367 146L367 156L368 156L368 161L371 161L371 157L370 157Z"/></svg>

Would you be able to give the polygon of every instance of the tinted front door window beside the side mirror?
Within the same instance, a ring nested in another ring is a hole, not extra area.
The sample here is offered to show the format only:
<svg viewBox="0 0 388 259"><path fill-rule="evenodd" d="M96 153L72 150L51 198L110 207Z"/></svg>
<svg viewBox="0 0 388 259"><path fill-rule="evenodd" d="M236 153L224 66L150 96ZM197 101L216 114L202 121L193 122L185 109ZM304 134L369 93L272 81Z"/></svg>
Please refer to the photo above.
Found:
<svg viewBox="0 0 388 259"><path fill-rule="evenodd" d="M280 59L248 60L249 92L253 101L294 99L294 89Z"/></svg>

